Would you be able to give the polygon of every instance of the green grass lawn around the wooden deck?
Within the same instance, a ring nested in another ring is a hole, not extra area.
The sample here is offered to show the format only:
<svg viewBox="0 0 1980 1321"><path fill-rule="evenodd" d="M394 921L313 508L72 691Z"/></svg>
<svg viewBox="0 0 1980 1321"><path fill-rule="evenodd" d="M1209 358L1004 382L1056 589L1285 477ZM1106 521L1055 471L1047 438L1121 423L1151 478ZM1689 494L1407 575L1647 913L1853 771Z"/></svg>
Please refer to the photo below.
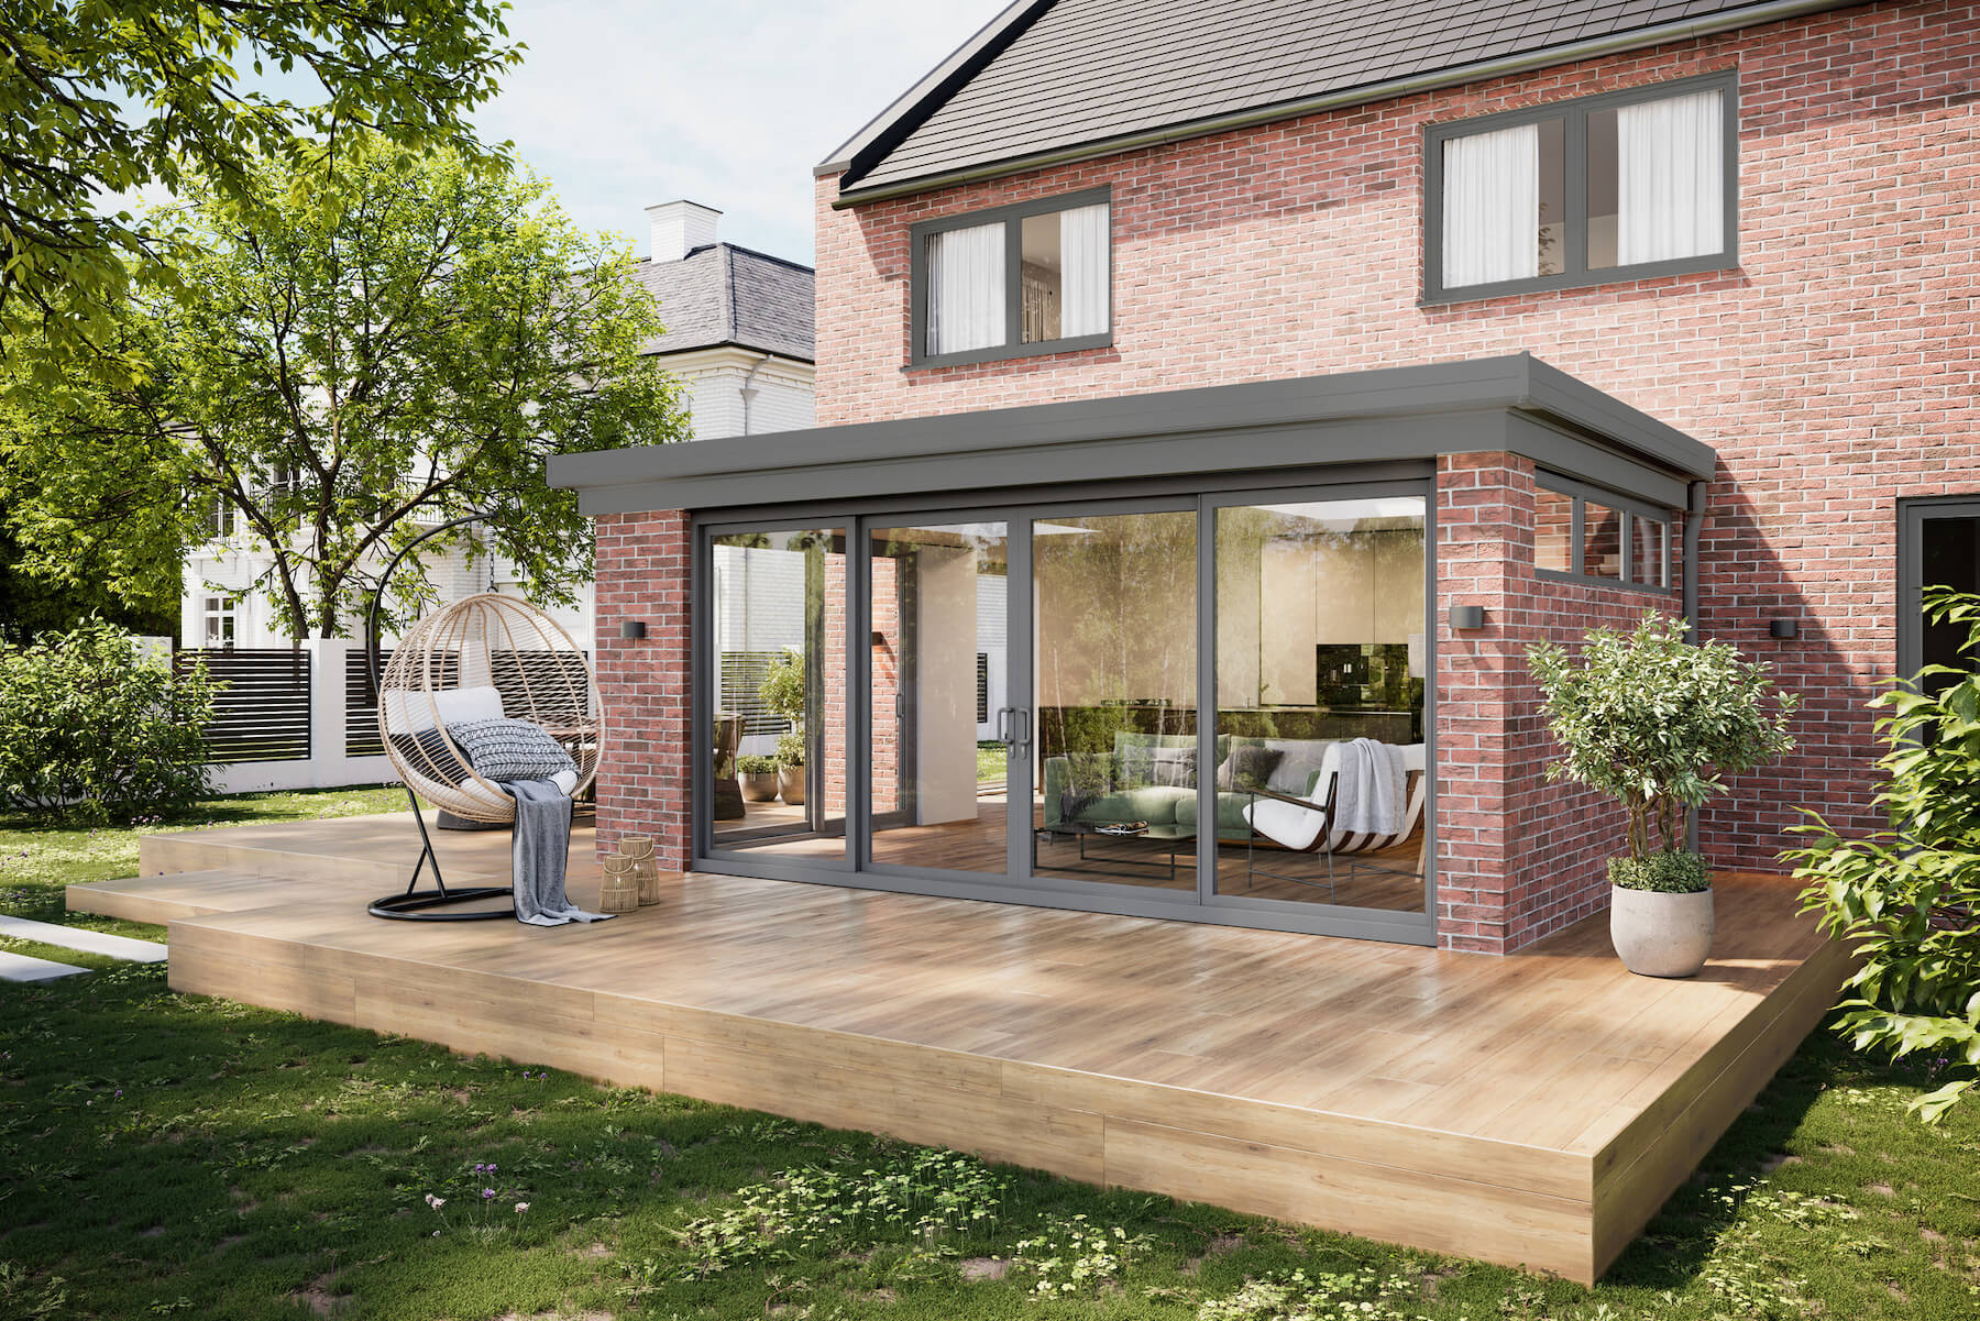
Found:
<svg viewBox="0 0 1980 1321"><path fill-rule="evenodd" d="M10 905L57 885L42 838ZM0 986L0 1317L1974 1317L1980 1111L1927 1129L1903 1113L1927 1085L1810 1038L1588 1291L174 996L119 965Z"/></svg>

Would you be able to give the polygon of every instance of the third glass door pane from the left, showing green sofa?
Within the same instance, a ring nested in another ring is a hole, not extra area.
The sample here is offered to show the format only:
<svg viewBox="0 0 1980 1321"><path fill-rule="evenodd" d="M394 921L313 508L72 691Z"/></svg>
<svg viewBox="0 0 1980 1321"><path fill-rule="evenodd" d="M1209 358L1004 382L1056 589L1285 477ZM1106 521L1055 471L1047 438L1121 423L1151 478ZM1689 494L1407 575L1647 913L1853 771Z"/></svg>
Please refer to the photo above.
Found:
<svg viewBox="0 0 1980 1321"><path fill-rule="evenodd" d="M1034 519L1032 875L1196 893L1196 509Z"/></svg>

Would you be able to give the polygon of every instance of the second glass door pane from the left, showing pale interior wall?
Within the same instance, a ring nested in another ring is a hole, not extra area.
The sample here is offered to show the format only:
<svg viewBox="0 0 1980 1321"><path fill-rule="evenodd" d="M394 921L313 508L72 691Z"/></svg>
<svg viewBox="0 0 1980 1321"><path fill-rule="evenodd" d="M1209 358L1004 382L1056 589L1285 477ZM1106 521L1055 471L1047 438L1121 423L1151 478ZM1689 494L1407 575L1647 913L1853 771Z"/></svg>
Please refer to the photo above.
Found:
<svg viewBox="0 0 1980 1321"><path fill-rule="evenodd" d="M871 529L869 858L1010 871L1010 525Z"/></svg>

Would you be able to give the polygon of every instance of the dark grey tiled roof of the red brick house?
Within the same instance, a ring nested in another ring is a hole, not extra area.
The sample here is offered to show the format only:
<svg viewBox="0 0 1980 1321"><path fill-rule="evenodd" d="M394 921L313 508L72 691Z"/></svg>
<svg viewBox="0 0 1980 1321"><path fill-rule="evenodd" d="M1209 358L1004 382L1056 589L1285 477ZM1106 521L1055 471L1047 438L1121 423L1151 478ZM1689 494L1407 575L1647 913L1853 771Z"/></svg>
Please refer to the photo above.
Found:
<svg viewBox="0 0 1980 1321"><path fill-rule="evenodd" d="M857 202L1845 2L1034 0L1004 10L820 172L843 170L842 196Z"/></svg>

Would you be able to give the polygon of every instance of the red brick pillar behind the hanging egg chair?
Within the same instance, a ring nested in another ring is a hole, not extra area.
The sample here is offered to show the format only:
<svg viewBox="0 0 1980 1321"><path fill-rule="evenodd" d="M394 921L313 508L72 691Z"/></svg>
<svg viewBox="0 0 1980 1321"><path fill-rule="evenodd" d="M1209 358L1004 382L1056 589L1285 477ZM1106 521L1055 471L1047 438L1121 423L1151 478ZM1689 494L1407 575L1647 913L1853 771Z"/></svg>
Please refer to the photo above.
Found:
<svg viewBox="0 0 1980 1321"><path fill-rule="evenodd" d="M594 667L604 701L598 766L598 852L620 836L653 836L661 867L691 854L691 757L713 751L713 731L691 737L687 515L608 513L596 519L598 638ZM645 638L620 638L640 620Z"/></svg>

